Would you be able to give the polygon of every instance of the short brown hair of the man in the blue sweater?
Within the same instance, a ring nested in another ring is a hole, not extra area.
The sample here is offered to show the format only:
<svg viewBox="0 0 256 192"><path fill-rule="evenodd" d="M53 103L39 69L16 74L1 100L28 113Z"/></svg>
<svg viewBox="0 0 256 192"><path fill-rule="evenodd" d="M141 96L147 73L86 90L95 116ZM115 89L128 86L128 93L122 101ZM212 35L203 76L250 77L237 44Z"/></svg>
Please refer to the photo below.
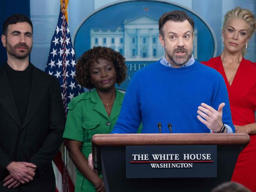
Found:
<svg viewBox="0 0 256 192"><path fill-rule="evenodd" d="M185 11L179 11L174 10L170 11L168 13L164 13L159 18L159 34L163 37L163 26L166 21L175 21L175 22L183 22L183 21L189 21L190 25L192 26L193 32L194 32L194 21L187 15Z"/></svg>

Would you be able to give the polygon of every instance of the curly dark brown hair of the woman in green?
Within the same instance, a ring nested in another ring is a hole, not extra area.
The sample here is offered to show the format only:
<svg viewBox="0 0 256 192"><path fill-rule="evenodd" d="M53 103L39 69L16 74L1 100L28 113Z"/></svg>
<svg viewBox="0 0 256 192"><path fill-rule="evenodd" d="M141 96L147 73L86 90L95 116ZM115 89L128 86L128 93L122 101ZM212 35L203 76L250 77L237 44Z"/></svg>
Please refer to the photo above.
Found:
<svg viewBox="0 0 256 192"><path fill-rule="evenodd" d="M99 62L100 58L113 62L116 69L116 83L118 85L126 79L127 67L125 65L125 58L120 52L114 51L112 48L99 46L84 52L77 61L76 80L81 86L88 89L95 88L91 82L89 67L94 62Z"/></svg>

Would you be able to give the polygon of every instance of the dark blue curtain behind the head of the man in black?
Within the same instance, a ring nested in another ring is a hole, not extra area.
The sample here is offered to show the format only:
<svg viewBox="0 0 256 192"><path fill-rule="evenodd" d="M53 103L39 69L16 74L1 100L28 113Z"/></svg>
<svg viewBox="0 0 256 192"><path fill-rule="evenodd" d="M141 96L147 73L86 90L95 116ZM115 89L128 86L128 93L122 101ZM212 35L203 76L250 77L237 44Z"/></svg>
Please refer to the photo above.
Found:
<svg viewBox="0 0 256 192"><path fill-rule="evenodd" d="M21 13L30 17L30 0L0 0L0 33L3 34L4 21L12 14ZM0 46L0 65L6 62L6 49Z"/></svg>

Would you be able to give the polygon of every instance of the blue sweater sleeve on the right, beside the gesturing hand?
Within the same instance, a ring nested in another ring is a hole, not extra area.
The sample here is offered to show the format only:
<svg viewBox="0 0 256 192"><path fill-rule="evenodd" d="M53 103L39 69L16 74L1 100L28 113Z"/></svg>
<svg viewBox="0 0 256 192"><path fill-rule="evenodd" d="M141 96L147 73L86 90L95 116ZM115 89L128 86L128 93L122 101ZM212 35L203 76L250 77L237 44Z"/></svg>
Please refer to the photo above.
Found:
<svg viewBox="0 0 256 192"><path fill-rule="evenodd" d="M212 98L212 107L215 110L218 110L219 104L225 103L222 111L222 122L225 125L230 126L233 132L235 132L235 127L232 123L231 111L230 111L230 103L228 99L228 90L226 88L226 84L221 75L219 75L218 80L216 80L215 90L213 92Z"/></svg>

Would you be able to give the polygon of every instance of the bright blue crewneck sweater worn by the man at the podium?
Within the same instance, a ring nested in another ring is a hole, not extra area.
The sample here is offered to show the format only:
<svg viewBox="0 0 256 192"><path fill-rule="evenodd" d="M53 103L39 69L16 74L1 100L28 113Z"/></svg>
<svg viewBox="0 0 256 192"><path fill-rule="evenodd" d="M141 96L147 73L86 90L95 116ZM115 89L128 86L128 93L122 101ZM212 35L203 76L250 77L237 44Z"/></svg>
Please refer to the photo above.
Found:
<svg viewBox="0 0 256 192"><path fill-rule="evenodd" d="M163 133L169 133L168 123L173 133L209 133L196 117L198 106L206 103L217 110L222 102L222 121L234 132L228 91L215 69L197 61L185 68L158 61L133 75L112 133L136 133L141 121L142 133L158 133L159 122Z"/></svg>

